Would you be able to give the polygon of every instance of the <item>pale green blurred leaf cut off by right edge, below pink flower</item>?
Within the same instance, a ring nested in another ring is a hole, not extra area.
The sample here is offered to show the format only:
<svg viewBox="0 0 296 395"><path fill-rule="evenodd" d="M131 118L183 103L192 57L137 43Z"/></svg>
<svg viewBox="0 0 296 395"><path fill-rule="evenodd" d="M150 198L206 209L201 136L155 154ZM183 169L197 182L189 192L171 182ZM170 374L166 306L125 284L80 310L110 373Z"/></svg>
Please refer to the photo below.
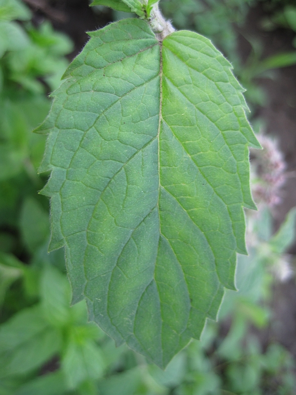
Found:
<svg viewBox="0 0 296 395"><path fill-rule="evenodd" d="M274 252L282 254L294 243L296 237L295 220L296 208L294 207L289 211L278 232L270 239L269 243Z"/></svg>

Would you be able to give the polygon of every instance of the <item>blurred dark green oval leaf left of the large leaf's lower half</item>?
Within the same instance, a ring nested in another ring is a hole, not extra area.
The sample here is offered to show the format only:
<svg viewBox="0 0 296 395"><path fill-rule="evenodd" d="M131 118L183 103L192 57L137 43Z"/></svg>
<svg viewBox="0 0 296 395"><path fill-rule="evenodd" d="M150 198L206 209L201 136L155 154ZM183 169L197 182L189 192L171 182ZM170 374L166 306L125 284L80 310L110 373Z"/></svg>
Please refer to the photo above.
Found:
<svg viewBox="0 0 296 395"><path fill-rule="evenodd" d="M32 197L27 197L23 203L20 230L24 243L31 253L34 253L49 237L48 213Z"/></svg>

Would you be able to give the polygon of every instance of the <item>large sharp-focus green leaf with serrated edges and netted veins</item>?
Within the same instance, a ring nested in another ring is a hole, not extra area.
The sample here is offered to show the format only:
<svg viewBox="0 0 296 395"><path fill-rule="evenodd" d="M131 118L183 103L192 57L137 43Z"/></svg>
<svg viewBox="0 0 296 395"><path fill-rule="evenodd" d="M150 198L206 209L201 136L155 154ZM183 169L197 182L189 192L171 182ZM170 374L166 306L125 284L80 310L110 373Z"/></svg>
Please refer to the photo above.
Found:
<svg viewBox="0 0 296 395"><path fill-rule="evenodd" d="M54 93L50 248L66 248L73 300L119 345L165 366L215 319L246 253L254 208L242 88L211 42L158 42L125 19L90 33Z"/></svg>

